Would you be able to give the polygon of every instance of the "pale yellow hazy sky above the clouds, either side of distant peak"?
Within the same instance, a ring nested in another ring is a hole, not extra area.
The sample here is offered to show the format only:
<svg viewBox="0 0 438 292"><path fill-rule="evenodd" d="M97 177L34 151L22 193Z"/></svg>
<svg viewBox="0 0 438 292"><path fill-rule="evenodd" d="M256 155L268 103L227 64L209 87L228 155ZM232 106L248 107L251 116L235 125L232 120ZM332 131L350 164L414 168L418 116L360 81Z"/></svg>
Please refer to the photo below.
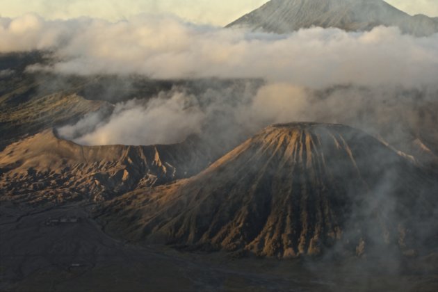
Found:
<svg viewBox="0 0 438 292"><path fill-rule="evenodd" d="M0 16L38 13L47 19L79 16L118 20L139 13L170 13L190 22L225 25L267 0L0 0ZM410 14L438 16L438 0L387 0Z"/></svg>

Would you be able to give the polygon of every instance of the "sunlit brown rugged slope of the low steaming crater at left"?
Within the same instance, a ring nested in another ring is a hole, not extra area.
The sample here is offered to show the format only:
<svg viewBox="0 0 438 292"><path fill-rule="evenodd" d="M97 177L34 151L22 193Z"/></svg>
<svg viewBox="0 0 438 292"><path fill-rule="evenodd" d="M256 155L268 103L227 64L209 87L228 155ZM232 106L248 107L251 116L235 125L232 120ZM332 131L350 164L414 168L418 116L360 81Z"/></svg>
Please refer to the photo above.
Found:
<svg viewBox="0 0 438 292"><path fill-rule="evenodd" d="M0 152L0 197L33 203L106 200L190 177L208 163L209 153L195 137L175 145L85 147L44 131Z"/></svg>

